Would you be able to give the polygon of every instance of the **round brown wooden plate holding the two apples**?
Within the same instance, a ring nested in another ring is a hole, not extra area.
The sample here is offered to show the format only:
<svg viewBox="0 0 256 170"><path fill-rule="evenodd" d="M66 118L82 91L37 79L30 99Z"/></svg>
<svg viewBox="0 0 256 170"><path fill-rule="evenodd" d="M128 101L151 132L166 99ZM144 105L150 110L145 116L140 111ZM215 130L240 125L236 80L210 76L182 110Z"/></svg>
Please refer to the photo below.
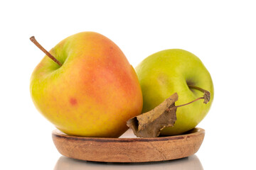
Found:
<svg viewBox="0 0 256 170"><path fill-rule="evenodd" d="M122 137L76 137L53 130L53 142L60 154L93 162L159 162L195 154L205 130L194 128L184 135L139 138L132 130ZM129 138L132 137L132 138Z"/></svg>

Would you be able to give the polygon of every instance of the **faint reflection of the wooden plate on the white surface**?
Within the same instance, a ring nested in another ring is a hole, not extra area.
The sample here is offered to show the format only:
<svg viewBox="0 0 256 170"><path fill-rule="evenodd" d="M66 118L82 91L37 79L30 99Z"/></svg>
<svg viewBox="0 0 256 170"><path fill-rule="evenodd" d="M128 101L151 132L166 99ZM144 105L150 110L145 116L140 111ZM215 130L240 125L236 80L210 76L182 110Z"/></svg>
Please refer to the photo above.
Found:
<svg viewBox="0 0 256 170"><path fill-rule="evenodd" d="M87 162L68 157L60 157L55 164L54 170L97 170L97 169L194 169L202 170L200 160L196 155L183 159L176 159L165 162L146 162L146 163L105 163L105 162Z"/></svg>

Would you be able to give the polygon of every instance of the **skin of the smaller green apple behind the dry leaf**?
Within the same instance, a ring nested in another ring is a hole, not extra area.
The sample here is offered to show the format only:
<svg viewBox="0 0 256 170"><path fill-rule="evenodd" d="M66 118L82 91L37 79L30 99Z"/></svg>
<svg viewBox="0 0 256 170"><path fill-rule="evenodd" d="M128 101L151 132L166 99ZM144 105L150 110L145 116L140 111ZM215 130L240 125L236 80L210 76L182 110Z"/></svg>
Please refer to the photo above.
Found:
<svg viewBox="0 0 256 170"><path fill-rule="evenodd" d="M177 108L176 123L161 130L161 135L178 135L191 130L203 120L213 103L213 81L201 60L191 52L180 49L163 50L146 57L136 68L142 87L142 113L158 106L171 94L178 93L176 106L202 97L203 93L188 85L210 91L210 102L196 101Z"/></svg>

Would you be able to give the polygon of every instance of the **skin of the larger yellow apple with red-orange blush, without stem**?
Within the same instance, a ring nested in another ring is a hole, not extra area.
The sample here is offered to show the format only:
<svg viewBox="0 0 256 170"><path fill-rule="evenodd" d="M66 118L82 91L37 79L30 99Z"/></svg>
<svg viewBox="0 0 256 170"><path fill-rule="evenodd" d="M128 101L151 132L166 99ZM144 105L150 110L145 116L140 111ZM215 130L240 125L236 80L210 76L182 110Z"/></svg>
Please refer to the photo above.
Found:
<svg viewBox="0 0 256 170"><path fill-rule="evenodd" d="M123 52L99 33L71 35L50 50L31 76L31 97L68 135L119 137L142 111L137 74Z"/></svg>

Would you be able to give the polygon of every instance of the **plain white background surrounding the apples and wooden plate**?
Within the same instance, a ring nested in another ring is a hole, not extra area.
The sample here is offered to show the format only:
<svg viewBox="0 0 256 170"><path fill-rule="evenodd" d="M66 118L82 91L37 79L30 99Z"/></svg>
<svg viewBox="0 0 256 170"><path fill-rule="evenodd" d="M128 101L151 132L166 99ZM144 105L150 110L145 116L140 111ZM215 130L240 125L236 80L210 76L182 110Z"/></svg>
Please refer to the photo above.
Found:
<svg viewBox="0 0 256 170"><path fill-rule="evenodd" d="M114 41L134 67L154 52L181 48L197 55L213 78L215 98L198 125L206 137L196 155L134 169L198 169L186 166L191 159L203 169L256 169L255 8L253 1L1 1L0 169L58 169L65 159L53 145L54 126L31 101L30 76L44 55L29 38L50 50L87 30Z"/></svg>

